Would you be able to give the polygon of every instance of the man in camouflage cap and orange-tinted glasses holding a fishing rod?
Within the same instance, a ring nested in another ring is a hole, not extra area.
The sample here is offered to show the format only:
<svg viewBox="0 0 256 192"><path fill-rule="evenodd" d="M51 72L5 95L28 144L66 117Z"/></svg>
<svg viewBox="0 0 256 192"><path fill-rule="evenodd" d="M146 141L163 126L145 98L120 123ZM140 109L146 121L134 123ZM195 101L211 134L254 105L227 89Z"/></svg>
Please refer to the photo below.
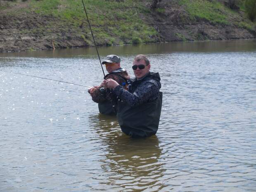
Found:
<svg viewBox="0 0 256 192"><path fill-rule="evenodd" d="M117 55L108 55L102 62L106 66L107 74L104 79L113 79L119 85L126 85L127 80L130 78L127 71L120 66L121 59ZM102 85L94 86L88 90L92 96L92 100L98 103L99 111L102 114L116 115L117 102L116 95L110 89L104 88Z"/></svg>

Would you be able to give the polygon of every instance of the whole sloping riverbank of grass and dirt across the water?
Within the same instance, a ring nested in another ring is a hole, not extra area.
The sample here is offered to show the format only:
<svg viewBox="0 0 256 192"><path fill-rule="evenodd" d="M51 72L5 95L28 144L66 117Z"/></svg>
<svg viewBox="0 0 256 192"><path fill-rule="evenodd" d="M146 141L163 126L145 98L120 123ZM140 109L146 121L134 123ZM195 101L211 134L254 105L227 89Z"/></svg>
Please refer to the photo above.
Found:
<svg viewBox="0 0 256 192"><path fill-rule="evenodd" d="M97 45L256 38L243 5L225 1L85 0ZM0 52L92 46L81 1L0 0Z"/></svg>

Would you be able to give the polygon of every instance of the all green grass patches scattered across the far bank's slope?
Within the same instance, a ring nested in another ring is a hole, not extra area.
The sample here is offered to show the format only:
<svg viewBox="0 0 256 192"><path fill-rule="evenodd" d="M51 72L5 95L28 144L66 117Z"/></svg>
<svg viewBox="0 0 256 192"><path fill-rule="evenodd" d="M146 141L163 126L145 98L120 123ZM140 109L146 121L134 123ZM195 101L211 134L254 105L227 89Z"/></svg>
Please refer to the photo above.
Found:
<svg viewBox="0 0 256 192"><path fill-rule="evenodd" d="M140 15L147 18L152 14L149 6L145 6L145 1L84 0L84 2L97 45L110 46L160 41L160 35L154 27L147 25L140 19ZM152 0L147 2L150 3ZM245 17L241 19L241 15L238 12L233 11L217 0L176 0L176 2L181 6L180 9L185 9L185 14L180 14L179 16L181 24L193 21L207 21L213 25L235 24L249 30L253 30L256 26L255 23L250 22ZM21 3L26 3L28 6L21 7L16 12L10 12L9 14L14 16L24 12L28 14L35 12L46 18L46 26L38 26L37 29L27 33L38 33L40 36L45 36L47 33L55 33L57 31L59 33L57 36L60 37L62 33L71 33L71 36L77 36L86 44L93 45L81 0L28 0L26 2L17 0L1 4L0 10L4 10L7 7L15 7ZM239 7L241 10L245 9L242 0ZM154 14L163 16L165 13L168 14L168 11L166 8L159 7L154 11ZM52 17L52 20L47 19L49 17ZM26 31L22 32L26 33ZM181 33L175 33L175 36L180 40L187 40ZM198 34L198 38L204 37ZM55 43L57 45L57 42Z"/></svg>

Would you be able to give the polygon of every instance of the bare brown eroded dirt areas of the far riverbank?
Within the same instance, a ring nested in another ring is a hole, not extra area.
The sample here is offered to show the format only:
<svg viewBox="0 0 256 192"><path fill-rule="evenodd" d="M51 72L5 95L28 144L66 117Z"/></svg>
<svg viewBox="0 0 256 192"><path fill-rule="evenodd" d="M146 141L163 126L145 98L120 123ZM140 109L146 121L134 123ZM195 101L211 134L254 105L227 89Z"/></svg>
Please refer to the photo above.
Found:
<svg viewBox="0 0 256 192"><path fill-rule="evenodd" d="M164 13L152 10L147 17L140 15L147 25L154 27L157 31L158 35L152 37L152 43L256 38L255 28L248 29L235 24L212 24L203 19L191 21L184 9L168 2L168 0L163 0L159 4L160 8L165 9ZM145 3L145 6L149 7L149 3ZM92 46L92 37L86 23L81 23L77 27L71 23L65 24L65 21L60 22L58 18L40 16L35 12L24 12L16 16L8 14L15 12L16 9L19 7L1 11L0 52ZM92 28L104 28L104 26L92 25ZM111 33L111 31L106 31L106 33ZM94 34L97 45L109 45L108 39L98 38L97 32ZM115 37L115 39L113 45L118 45L120 37Z"/></svg>

